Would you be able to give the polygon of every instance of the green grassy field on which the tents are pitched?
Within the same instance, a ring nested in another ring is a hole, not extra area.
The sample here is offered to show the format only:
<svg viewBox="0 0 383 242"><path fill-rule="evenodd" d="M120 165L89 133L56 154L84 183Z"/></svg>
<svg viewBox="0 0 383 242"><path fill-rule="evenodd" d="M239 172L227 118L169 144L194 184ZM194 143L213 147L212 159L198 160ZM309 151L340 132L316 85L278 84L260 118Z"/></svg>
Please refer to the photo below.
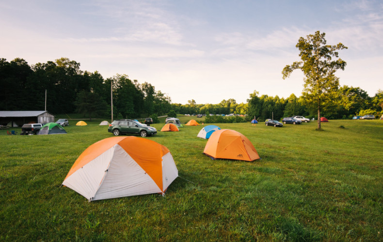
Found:
<svg viewBox="0 0 383 242"><path fill-rule="evenodd" d="M112 136L100 121L72 120L67 135L0 131L0 241L383 239L383 121L330 120L322 132L316 122L217 124L247 136L255 162L211 160L201 126L159 132L148 138L169 148L180 176L165 197L88 202L61 183L82 151Z"/></svg>

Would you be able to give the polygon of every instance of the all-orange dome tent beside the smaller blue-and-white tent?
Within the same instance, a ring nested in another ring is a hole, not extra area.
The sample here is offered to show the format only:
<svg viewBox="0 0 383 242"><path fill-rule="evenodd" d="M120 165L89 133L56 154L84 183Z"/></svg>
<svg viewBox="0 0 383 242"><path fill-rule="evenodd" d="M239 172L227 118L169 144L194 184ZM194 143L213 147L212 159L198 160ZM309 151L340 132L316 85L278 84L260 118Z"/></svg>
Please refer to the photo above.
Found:
<svg viewBox="0 0 383 242"><path fill-rule="evenodd" d="M231 129L221 129L212 133L205 146L204 154L212 159L243 161L260 159L250 140Z"/></svg>

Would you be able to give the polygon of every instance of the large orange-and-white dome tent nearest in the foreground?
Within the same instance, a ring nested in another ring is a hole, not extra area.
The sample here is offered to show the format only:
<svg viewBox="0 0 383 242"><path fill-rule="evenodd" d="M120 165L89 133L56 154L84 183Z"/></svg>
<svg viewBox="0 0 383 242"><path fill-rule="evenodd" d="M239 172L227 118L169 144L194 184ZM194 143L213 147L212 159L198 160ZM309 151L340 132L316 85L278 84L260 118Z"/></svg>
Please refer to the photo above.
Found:
<svg viewBox="0 0 383 242"><path fill-rule="evenodd" d="M66 175L63 185L89 201L164 194L178 177L170 151L141 137L110 137L89 146Z"/></svg>

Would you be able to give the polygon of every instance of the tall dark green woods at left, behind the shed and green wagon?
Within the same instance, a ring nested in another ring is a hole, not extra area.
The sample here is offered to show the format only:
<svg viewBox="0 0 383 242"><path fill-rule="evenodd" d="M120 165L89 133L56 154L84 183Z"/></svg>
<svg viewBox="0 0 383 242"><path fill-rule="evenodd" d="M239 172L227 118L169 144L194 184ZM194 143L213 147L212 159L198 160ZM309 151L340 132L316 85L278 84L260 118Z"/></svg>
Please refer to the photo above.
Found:
<svg viewBox="0 0 383 242"><path fill-rule="evenodd" d="M140 118L170 110L170 97L150 83L140 84L127 75L104 79L97 71L80 70L68 58L37 63L0 59L2 110L46 110L52 114L82 113L85 117Z"/></svg>

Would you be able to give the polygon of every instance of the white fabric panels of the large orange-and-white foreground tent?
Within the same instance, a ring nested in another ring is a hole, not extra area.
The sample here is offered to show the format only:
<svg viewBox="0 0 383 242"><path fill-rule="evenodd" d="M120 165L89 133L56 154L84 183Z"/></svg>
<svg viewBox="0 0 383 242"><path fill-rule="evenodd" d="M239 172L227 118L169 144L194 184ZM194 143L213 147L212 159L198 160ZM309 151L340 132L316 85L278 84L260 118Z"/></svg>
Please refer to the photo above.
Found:
<svg viewBox="0 0 383 242"><path fill-rule="evenodd" d="M162 157L163 190L178 177L170 152ZM119 144L67 177L63 185L89 201L162 193L156 182Z"/></svg>

